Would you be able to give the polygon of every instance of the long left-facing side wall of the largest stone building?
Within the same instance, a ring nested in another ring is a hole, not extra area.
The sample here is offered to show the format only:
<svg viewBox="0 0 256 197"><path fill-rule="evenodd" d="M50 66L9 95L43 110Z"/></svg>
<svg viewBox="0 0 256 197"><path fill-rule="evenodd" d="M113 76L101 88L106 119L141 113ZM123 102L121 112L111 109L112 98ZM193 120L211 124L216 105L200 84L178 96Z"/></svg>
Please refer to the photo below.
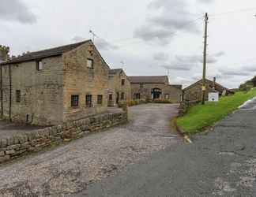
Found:
<svg viewBox="0 0 256 197"><path fill-rule="evenodd" d="M58 125L63 121L63 63L62 57L43 58L43 70L36 61L2 66L3 115L33 125ZM11 84L9 83L9 69ZM11 88L10 88L11 87ZM17 102L16 91L21 92Z"/></svg>

